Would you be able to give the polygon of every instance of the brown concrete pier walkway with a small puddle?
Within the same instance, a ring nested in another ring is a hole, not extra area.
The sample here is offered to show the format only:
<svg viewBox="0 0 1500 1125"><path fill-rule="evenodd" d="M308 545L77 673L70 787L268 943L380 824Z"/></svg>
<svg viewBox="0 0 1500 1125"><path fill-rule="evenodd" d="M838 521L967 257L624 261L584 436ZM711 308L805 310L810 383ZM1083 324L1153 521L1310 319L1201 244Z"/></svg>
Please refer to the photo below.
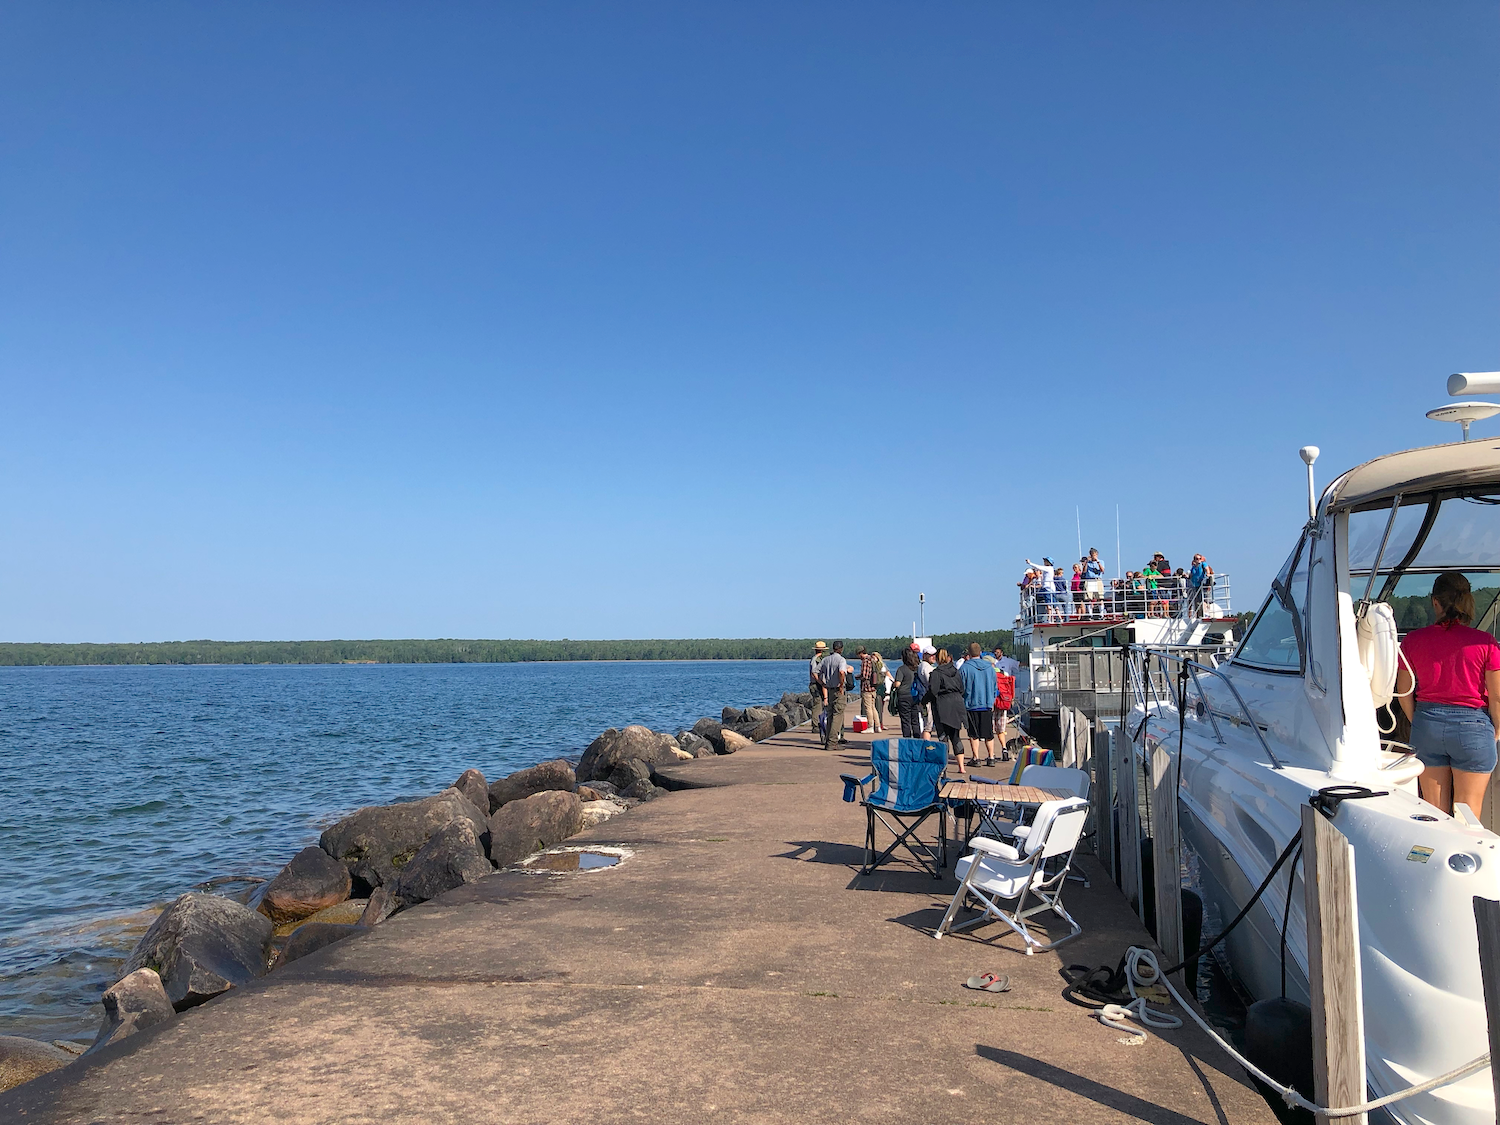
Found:
<svg viewBox="0 0 1500 1125"><path fill-rule="evenodd" d="M1275 1120L1191 1024L1128 1046L1059 996L1060 966L1148 944L1092 860L1083 936L1034 957L999 924L933 940L952 852L940 882L860 876L838 774L868 738L674 766L711 788L567 842L616 867L498 872L0 1095L0 1122ZM982 972L1011 992L962 987Z"/></svg>

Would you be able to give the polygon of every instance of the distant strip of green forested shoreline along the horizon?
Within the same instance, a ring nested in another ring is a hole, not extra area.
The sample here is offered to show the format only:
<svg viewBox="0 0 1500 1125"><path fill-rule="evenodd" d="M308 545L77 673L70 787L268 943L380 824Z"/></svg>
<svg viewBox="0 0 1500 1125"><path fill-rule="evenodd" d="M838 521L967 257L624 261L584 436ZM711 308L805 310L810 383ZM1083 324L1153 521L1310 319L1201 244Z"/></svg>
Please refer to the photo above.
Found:
<svg viewBox="0 0 1500 1125"><path fill-rule="evenodd" d="M0 666L60 664L507 664L518 660L795 660L813 640L840 638L741 638L686 640L153 640L140 645L0 644ZM844 651L866 645L891 657L910 638L843 638ZM1011 646L1011 630L933 638L957 650L978 640Z"/></svg>

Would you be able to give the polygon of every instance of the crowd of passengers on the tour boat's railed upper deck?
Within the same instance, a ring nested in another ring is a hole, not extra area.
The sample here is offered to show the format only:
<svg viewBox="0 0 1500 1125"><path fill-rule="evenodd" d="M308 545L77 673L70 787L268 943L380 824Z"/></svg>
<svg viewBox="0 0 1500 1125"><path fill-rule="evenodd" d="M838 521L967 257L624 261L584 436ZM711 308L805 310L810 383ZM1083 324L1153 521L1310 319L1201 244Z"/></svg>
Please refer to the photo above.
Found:
<svg viewBox="0 0 1500 1125"><path fill-rule="evenodd" d="M1072 564L1070 576L1050 558L1026 560L1026 574L1016 584L1022 604L1035 610L1035 621L1082 621L1104 616L1176 616L1197 612L1214 586L1214 567L1203 555L1192 556L1188 570L1172 568L1162 552L1155 552L1140 570L1106 580L1098 548Z"/></svg>

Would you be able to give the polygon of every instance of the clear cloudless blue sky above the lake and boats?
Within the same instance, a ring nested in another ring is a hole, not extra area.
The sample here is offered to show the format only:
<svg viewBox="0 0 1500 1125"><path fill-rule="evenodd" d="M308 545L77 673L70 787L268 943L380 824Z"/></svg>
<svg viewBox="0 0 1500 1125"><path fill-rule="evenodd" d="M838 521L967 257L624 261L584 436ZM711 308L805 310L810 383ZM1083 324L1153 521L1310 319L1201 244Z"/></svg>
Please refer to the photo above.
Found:
<svg viewBox="0 0 1500 1125"><path fill-rule="evenodd" d="M1500 368L1497 111L1492 3L8 4L0 639L998 627L1076 504L1254 608Z"/></svg>

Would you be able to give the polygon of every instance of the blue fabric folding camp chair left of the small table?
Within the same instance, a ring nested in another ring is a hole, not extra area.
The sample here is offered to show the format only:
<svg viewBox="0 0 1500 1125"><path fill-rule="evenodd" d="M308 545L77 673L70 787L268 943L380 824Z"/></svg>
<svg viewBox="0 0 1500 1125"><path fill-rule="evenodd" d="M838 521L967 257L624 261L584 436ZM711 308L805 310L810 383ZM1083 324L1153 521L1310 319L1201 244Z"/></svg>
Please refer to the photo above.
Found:
<svg viewBox="0 0 1500 1125"><path fill-rule="evenodd" d="M844 801L855 800L864 806L864 867L860 874L870 874L892 856L897 848L904 848L916 864L942 878L948 866L948 807L938 800L944 770L948 765L948 747L926 738L878 738L870 742L870 774L855 777L840 774L844 783ZM873 789L866 786L874 782ZM915 832L928 816L938 816L938 848L918 840ZM874 824L885 825L896 840L884 852L874 852Z"/></svg>

